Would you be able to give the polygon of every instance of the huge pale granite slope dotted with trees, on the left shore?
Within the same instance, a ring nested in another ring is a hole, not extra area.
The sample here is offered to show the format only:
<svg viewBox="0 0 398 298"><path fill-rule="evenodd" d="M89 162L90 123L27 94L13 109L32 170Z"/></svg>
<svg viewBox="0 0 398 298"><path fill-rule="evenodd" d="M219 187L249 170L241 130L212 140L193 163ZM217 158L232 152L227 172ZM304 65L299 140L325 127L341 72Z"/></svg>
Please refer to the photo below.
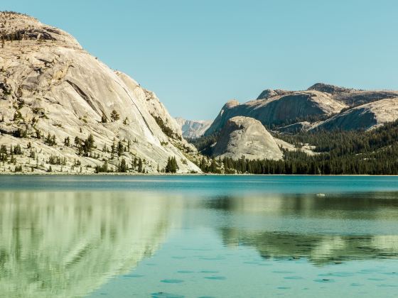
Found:
<svg viewBox="0 0 398 298"><path fill-rule="evenodd" d="M136 172L132 162L139 158L143 171L157 172L176 157L180 172L200 172L185 157L195 155L195 148L183 140L178 123L153 92L111 70L58 28L15 13L2 12L0 20L0 145L26 148L16 157L23 170L40 172L38 165L48 168L55 155L66 162L53 165L53 171L90 173L104 160L112 169L124 158L129 171ZM21 132L23 138L18 138ZM49 134L56 144L45 143ZM77 155L75 138L85 140L90 134L95 148L87 156ZM122 155L109 152L118 143ZM34 159L26 156L31 150ZM0 171L13 167L4 165Z"/></svg>

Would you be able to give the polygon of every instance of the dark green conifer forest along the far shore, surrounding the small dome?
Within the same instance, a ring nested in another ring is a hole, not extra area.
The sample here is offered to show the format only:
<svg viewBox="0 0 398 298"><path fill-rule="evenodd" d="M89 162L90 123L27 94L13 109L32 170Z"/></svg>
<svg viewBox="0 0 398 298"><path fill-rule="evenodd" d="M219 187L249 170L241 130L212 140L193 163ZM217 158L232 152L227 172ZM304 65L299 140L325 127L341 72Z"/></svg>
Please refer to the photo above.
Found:
<svg viewBox="0 0 398 298"><path fill-rule="evenodd" d="M316 154L283 150L283 160L203 159L200 167L204 172L225 173L398 175L398 121L372 131L310 131L275 136L296 148L313 145ZM215 141L217 136L207 136L192 143L210 156Z"/></svg>

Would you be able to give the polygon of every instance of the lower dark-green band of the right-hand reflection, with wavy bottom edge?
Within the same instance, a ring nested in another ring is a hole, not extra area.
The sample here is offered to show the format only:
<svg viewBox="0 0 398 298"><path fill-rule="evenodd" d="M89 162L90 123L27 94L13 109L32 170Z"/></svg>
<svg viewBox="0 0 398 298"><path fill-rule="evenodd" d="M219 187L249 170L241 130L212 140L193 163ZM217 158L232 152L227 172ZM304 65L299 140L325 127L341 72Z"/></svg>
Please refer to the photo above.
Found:
<svg viewBox="0 0 398 298"><path fill-rule="evenodd" d="M323 265L345 260L398 258L398 236L306 235L281 232L249 232L223 228L226 245L257 249L262 258L306 258Z"/></svg>

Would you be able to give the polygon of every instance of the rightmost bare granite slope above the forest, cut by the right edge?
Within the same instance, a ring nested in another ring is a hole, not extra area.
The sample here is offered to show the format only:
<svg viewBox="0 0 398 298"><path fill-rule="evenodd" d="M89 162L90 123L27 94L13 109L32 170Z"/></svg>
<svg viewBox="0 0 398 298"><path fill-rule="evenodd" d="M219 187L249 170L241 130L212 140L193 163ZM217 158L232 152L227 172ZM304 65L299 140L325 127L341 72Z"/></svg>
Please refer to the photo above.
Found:
<svg viewBox="0 0 398 298"><path fill-rule="evenodd" d="M382 99L344 111L311 129L369 130L398 119L398 97Z"/></svg>

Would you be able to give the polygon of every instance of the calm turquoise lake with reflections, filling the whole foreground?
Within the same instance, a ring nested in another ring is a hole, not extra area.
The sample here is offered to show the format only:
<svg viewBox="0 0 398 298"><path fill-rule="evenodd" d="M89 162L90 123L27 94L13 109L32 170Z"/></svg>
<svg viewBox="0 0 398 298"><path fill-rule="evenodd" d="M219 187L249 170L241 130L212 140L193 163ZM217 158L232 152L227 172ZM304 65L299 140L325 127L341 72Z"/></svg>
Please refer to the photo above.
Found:
<svg viewBox="0 0 398 298"><path fill-rule="evenodd" d="M397 292L398 177L0 176L1 297Z"/></svg>

